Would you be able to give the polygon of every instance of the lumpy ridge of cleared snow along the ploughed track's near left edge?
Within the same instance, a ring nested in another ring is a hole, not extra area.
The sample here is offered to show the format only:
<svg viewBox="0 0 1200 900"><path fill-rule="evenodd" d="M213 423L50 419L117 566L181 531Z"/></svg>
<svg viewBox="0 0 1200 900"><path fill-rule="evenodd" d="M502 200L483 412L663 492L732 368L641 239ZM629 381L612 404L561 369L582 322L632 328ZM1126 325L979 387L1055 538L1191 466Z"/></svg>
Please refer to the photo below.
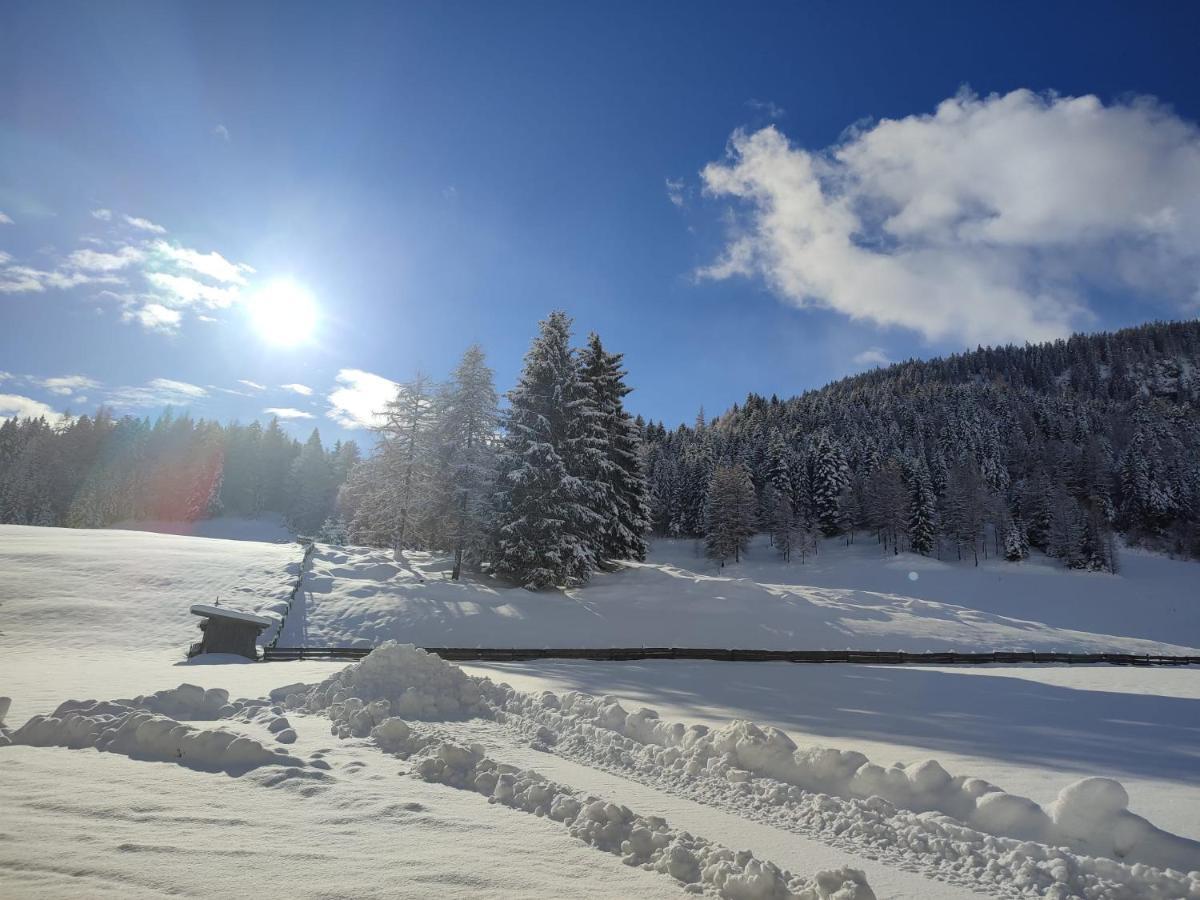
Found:
<svg viewBox="0 0 1200 900"><path fill-rule="evenodd" d="M641 816L535 772L497 763L478 745L443 743L416 763L415 773L426 781L473 790L491 803L560 822L584 844L620 856L626 865L670 875L696 893L707 888L736 900L875 900L865 876L856 869L822 871L808 881L756 859L750 851L732 851L676 830L658 816Z"/></svg>

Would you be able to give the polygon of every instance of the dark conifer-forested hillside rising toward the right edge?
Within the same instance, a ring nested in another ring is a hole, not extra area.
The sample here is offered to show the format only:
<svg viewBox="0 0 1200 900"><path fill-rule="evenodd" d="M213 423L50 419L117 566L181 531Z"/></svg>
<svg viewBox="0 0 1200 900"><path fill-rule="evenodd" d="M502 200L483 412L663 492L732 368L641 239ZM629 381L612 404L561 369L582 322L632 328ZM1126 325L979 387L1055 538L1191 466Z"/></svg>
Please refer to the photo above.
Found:
<svg viewBox="0 0 1200 900"><path fill-rule="evenodd" d="M1200 554L1198 322L904 362L646 438L655 532L721 554L756 528L784 553L870 532L1106 569L1120 530Z"/></svg>

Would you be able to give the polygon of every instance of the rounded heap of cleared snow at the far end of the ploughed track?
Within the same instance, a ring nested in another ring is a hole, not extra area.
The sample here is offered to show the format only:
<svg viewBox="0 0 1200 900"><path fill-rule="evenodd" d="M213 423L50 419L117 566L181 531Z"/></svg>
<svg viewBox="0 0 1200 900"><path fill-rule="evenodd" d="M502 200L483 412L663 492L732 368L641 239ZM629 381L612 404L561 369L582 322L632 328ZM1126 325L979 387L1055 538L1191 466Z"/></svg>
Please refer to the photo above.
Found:
<svg viewBox="0 0 1200 900"><path fill-rule="evenodd" d="M440 656L395 641L316 688L288 695L286 706L328 713L341 737L366 737L390 716L444 721L485 713L475 679Z"/></svg>

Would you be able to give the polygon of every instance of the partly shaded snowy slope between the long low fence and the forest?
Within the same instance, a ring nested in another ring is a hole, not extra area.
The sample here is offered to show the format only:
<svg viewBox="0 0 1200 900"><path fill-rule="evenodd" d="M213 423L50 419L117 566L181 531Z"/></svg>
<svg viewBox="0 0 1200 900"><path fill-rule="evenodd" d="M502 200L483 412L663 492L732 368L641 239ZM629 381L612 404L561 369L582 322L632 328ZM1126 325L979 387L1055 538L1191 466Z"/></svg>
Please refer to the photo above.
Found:
<svg viewBox="0 0 1200 900"><path fill-rule="evenodd" d="M448 560L427 553L396 562L322 546L280 644L1190 654L1200 644L1200 604L1188 601L1198 584L1200 565L1153 557L1135 575L1111 576L1045 562L976 569L838 542L791 565L760 542L744 564L718 570L694 542L664 540L649 562L583 588L528 592L452 582Z"/></svg>

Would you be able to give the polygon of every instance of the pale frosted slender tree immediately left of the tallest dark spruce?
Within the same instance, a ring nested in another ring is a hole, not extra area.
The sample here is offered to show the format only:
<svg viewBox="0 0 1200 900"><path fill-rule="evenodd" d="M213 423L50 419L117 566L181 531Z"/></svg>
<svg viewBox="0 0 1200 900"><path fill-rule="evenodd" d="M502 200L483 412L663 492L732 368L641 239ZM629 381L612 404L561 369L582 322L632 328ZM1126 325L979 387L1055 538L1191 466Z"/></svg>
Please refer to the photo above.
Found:
<svg viewBox="0 0 1200 900"><path fill-rule="evenodd" d="M474 565L486 544L496 481L496 386L484 350L467 348L438 400L439 509L454 550L451 577Z"/></svg>

